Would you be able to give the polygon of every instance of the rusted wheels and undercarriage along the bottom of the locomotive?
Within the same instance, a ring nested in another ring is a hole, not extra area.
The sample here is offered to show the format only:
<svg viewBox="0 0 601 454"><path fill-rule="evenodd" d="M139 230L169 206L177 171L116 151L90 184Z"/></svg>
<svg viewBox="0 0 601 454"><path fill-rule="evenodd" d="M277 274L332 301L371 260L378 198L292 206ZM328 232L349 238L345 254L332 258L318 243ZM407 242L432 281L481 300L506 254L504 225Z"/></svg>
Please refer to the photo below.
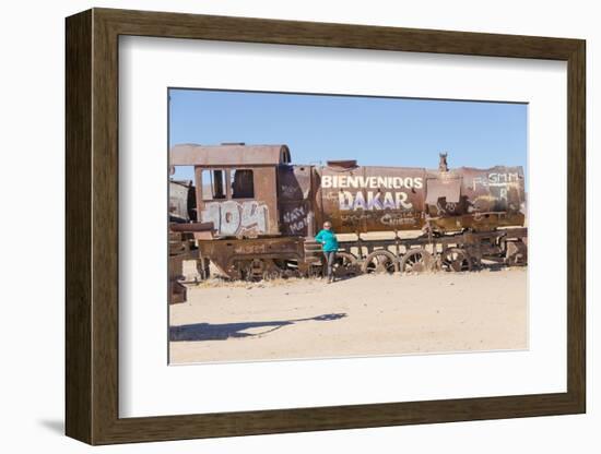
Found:
<svg viewBox="0 0 601 454"><path fill-rule="evenodd" d="M423 234L414 238L339 241L337 277L370 273L469 272L484 267L525 266L528 263L528 229ZM313 238L261 237L201 241L199 260L204 278L208 261L229 279L275 279L320 276L325 272L321 246Z"/></svg>

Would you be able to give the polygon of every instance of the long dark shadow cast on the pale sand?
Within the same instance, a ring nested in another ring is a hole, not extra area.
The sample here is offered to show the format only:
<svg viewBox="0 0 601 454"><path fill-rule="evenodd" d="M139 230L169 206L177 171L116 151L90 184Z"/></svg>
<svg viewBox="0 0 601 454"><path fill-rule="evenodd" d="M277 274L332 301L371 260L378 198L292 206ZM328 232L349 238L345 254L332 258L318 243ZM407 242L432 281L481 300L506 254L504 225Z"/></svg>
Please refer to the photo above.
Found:
<svg viewBox="0 0 601 454"><path fill-rule="evenodd" d="M293 325L299 322L331 322L346 316L345 313L328 313L307 319L280 320L270 322L241 322L241 323L195 323L190 325L169 326L169 340L196 342L196 340L225 340L232 337L251 337L271 333L282 326ZM245 333L250 328L264 328L258 333Z"/></svg>

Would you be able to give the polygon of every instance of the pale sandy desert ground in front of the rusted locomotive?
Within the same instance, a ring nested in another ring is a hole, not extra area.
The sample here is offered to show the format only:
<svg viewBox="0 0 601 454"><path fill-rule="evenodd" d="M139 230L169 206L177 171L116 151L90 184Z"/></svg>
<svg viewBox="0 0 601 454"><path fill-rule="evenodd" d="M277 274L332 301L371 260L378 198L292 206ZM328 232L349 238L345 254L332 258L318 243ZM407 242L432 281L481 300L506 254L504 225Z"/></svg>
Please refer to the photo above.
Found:
<svg viewBox="0 0 601 454"><path fill-rule="evenodd" d="M527 268L205 282L169 308L172 363L528 348Z"/></svg>

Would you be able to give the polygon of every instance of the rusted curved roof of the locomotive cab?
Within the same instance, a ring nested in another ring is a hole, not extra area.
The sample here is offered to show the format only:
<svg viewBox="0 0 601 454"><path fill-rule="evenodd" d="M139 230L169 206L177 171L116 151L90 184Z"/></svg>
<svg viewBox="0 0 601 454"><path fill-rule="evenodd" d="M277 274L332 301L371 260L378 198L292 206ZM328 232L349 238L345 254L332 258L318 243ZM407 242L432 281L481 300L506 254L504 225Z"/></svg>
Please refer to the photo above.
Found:
<svg viewBox="0 0 601 454"><path fill-rule="evenodd" d="M286 145L175 145L169 151L172 166L264 166L291 162Z"/></svg>

